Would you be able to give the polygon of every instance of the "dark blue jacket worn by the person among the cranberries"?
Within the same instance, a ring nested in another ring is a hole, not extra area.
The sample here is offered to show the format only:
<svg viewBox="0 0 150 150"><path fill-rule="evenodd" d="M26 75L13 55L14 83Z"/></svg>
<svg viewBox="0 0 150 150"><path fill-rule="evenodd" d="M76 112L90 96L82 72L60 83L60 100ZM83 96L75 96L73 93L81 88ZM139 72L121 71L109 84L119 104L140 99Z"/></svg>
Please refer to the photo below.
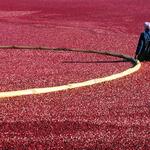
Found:
<svg viewBox="0 0 150 150"><path fill-rule="evenodd" d="M136 49L136 55L141 55L144 53L146 42L150 40L150 30L145 30L141 33L138 46Z"/></svg>

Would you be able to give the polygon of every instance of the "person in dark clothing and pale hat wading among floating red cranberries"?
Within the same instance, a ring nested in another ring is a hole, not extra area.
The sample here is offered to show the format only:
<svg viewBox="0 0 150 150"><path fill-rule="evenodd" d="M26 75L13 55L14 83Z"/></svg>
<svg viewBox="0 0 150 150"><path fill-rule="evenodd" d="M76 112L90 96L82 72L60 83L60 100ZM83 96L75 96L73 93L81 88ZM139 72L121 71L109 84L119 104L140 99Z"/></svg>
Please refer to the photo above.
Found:
<svg viewBox="0 0 150 150"><path fill-rule="evenodd" d="M144 23L145 31L141 33L137 45L135 59L140 61L150 60L150 22Z"/></svg>

